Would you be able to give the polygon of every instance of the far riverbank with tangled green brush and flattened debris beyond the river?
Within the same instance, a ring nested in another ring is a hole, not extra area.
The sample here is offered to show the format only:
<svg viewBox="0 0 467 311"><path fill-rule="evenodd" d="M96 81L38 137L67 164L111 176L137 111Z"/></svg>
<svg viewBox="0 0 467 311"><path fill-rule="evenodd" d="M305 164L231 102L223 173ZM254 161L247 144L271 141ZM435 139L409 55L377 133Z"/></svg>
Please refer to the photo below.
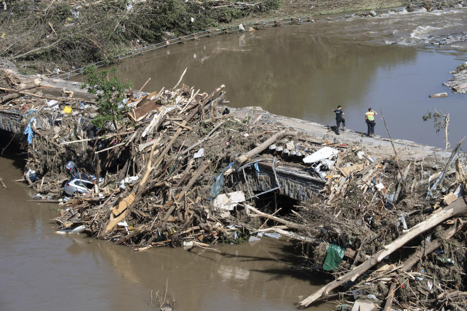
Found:
<svg viewBox="0 0 467 311"><path fill-rule="evenodd" d="M457 2L426 2L425 7L447 8ZM0 57L18 65L22 73L56 75L82 68L97 61L115 62L115 55L150 46L161 40L221 27L258 23L279 17L322 16L343 12L403 6L400 1L279 1L255 4L218 1L174 2L164 0L123 1L85 5L65 0L16 1L0 12L4 33L0 39ZM328 16L332 17L332 16ZM18 23L21 20L21 23ZM95 22L99 20L99 22ZM15 23L15 21L17 21ZM196 39L196 38L194 38ZM175 42L169 42L173 44ZM178 43L183 43L180 40ZM140 51L141 52L141 51Z"/></svg>

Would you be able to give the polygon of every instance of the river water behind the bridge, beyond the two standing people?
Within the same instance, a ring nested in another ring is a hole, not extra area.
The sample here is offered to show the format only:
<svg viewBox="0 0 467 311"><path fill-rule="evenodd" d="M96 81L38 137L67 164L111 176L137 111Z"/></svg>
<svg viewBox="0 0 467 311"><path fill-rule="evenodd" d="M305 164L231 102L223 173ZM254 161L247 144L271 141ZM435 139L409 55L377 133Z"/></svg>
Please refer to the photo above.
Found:
<svg viewBox="0 0 467 311"><path fill-rule="evenodd" d="M425 45L430 35L466 30L467 8L355 16L175 44L123 61L119 75L136 89L151 78L144 90L152 92L188 67L185 84L208 93L225 84L231 106L335 124L332 110L342 105L347 128L364 133L368 107L382 109L392 137L444 147L422 116L431 107L450 113L452 145L467 134L467 96L442 85L467 61L467 45ZM429 98L440 92L449 97Z"/></svg>

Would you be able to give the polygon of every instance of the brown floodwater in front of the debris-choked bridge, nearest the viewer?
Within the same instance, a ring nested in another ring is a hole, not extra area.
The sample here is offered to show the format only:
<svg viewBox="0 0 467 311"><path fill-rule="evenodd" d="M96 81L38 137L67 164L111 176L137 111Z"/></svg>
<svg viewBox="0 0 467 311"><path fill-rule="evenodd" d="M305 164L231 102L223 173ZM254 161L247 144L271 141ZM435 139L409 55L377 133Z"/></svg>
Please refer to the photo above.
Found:
<svg viewBox="0 0 467 311"><path fill-rule="evenodd" d="M0 157L8 187L0 187L1 311L159 310L149 304L151 290L155 297L166 284L180 311L294 310L299 295L324 282L291 270L300 253L286 241L216 245L220 254L181 247L135 252L85 234L58 235L51 220L57 206L25 202L35 193L14 182L24 165L17 148Z"/></svg>

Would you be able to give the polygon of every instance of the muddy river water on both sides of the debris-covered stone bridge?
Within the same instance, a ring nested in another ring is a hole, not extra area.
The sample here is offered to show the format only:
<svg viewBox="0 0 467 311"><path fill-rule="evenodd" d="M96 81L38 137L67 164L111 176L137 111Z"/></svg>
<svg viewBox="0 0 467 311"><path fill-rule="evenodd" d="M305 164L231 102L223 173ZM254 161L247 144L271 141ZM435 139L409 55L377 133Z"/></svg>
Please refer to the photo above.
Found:
<svg viewBox="0 0 467 311"><path fill-rule="evenodd" d="M225 84L232 106L331 124L343 106L347 127L364 131L368 106L383 109L392 135L443 145L421 120L433 106L451 114L451 139L465 135L466 95L429 99L449 70L467 61L462 44L425 47L430 35L466 31L466 9L385 14L204 38L122 63L119 74L145 90L184 83L210 91ZM391 44L398 43L398 44ZM381 121L376 133L384 135ZM0 141L0 152L8 139ZM50 204L15 183L23 160L10 145L0 157L0 310L157 310L150 293L168 284L178 310L293 310L299 295L324 282L293 271L299 255L286 241L137 253L85 235L60 236ZM321 304L311 310L330 310Z"/></svg>

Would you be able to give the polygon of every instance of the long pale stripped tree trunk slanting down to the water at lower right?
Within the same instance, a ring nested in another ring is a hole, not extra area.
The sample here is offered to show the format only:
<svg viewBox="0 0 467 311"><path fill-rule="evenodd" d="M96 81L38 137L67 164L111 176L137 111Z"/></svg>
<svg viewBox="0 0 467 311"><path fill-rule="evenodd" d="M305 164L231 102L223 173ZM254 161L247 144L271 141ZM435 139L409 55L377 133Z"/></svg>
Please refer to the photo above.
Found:
<svg viewBox="0 0 467 311"><path fill-rule="evenodd" d="M329 295L329 291L337 288L341 284L345 283L346 281L355 281L357 277L359 277L362 273L373 267L375 264L380 262L386 256L391 255L405 243L411 241L416 236L420 235L421 233L431 229L432 227L438 225L439 223L449 219L450 217L454 217L457 215L462 215L467 213L467 204L464 197L457 199L454 203L452 203L449 207L445 207L443 210L436 214L432 214L427 220L414 225L412 228L407 230L403 235L399 238L395 239L388 245L385 245L379 252L375 255L370 257L370 259L366 260L353 270L349 271L348 273L340 276L336 280L324 285L314 294L309 295L304 300L300 301L300 307L307 307L312 304L314 301L326 297Z"/></svg>

